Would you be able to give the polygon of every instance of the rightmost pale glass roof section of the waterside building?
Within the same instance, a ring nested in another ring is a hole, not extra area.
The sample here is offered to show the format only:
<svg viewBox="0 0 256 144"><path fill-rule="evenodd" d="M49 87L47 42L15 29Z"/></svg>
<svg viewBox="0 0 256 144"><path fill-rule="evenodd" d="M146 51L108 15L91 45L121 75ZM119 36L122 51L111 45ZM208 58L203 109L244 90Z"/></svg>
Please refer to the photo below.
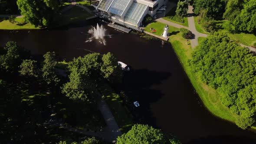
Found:
<svg viewBox="0 0 256 144"><path fill-rule="evenodd" d="M144 4L132 2L131 7L129 8L128 12L125 14L125 21L127 21L128 23L137 25L146 7L147 6Z"/></svg>

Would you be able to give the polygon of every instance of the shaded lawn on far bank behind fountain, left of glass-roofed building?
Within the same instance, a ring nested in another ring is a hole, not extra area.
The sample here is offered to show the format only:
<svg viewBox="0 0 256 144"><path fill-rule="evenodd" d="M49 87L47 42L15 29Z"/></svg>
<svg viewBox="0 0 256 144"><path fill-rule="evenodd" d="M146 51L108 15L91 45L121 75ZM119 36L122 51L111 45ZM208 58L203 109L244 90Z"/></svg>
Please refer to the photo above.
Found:
<svg viewBox="0 0 256 144"><path fill-rule="evenodd" d="M81 7L72 7L70 10L62 13L54 23L56 23L56 26L65 26L71 23L84 21L90 16L92 15Z"/></svg>

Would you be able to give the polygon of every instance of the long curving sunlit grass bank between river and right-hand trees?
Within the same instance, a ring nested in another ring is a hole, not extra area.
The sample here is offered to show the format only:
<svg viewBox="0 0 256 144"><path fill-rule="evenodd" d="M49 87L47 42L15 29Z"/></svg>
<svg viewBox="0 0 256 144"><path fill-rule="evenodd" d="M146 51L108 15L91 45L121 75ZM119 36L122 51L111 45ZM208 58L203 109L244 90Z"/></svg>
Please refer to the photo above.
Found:
<svg viewBox="0 0 256 144"><path fill-rule="evenodd" d="M153 26L164 26L164 23L152 23ZM147 26L145 30L150 29L152 26L151 24ZM182 38L181 33L179 33L179 29L170 27L169 32L172 33L170 36L169 42L172 44L174 51L176 52L178 58L181 61L181 64L184 67L185 72L187 73L187 76L190 79L190 82L196 89L198 95L200 96L201 100L203 101L206 108L217 117L223 118L228 121L234 122L236 120L237 115L233 114L229 108L222 105L220 101L220 95L218 92L209 87L208 85L200 82L200 80L197 78L197 75L190 71L188 59L191 59L191 53L193 49L191 49L190 45L186 45L185 39ZM156 27L158 28L158 27ZM158 29L157 29L158 30ZM161 29L159 29L161 30ZM159 34L159 33L155 33ZM200 41L202 39L200 38Z"/></svg>

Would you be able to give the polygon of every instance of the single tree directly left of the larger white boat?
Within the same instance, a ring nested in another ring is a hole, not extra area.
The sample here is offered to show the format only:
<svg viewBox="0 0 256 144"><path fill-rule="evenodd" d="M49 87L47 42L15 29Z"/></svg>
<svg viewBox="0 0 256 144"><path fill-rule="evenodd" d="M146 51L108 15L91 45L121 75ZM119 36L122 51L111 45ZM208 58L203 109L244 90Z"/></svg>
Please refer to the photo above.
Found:
<svg viewBox="0 0 256 144"><path fill-rule="evenodd" d="M108 79L110 82L120 83L123 72L117 59L110 52L108 52L102 56L102 62L101 72L103 77Z"/></svg>

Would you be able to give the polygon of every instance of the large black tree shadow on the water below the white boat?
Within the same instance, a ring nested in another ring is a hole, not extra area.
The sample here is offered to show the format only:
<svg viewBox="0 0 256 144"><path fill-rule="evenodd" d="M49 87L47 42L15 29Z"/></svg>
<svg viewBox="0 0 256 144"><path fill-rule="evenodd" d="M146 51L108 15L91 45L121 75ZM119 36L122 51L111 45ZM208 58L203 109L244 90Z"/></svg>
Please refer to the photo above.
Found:
<svg viewBox="0 0 256 144"><path fill-rule="evenodd" d="M125 73L125 93L131 101L138 101L140 106L135 108L135 117L140 123L156 125L151 111L151 104L158 101L164 94L161 90L153 89L153 85L160 85L161 81L171 76L170 72L156 72L148 69L137 69Z"/></svg>

